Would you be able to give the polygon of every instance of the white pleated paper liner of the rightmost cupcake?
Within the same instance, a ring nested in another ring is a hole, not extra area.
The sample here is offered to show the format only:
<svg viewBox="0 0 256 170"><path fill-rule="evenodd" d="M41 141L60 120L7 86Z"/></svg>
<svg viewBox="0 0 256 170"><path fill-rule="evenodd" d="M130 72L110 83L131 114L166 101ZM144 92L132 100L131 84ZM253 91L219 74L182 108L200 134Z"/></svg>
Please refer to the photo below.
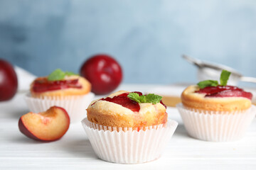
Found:
<svg viewBox="0 0 256 170"><path fill-rule="evenodd" d="M255 118L256 107L247 111L218 112L186 109L182 103L177 105L188 135L199 140L228 142L240 140Z"/></svg>

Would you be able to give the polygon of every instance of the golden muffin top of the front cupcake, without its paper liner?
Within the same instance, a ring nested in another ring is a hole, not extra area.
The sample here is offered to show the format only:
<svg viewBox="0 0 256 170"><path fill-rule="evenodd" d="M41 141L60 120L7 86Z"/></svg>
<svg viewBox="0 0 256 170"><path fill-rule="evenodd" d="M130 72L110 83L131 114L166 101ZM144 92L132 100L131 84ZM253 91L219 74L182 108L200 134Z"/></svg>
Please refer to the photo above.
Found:
<svg viewBox="0 0 256 170"><path fill-rule="evenodd" d="M156 96L157 100L146 101L151 96ZM87 108L87 119L99 125L136 128L164 124L167 113L161 96L148 94L146 97L137 91L117 91L106 98L92 101Z"/></svg>

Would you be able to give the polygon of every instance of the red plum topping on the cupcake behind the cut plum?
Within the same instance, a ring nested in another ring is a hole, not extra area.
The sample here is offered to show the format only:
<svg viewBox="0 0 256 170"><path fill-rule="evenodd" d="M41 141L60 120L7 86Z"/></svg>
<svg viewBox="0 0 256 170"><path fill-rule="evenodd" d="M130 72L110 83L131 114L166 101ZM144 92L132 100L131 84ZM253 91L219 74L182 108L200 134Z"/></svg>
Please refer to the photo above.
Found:
<svg viewBox="0 0 256 170"><path fill-rule="evenodd" d="M33 84L33 91L35 92L55 91L68 88L81 89L82 86L78 83L78 79L48 81L47 78L44 78L36 80Z"/></svg>

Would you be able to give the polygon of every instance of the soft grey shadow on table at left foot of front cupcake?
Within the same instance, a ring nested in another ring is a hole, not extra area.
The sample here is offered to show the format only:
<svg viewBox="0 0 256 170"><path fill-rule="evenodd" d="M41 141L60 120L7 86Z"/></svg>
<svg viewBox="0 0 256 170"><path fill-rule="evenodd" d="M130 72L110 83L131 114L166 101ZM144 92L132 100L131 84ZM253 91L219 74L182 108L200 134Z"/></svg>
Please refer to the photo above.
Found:
<svg viewBox="0 0 256 170"><path fill-rule="evenodd" d="M73 140L70 142L65 142L61 145L62 149L73 154L75 157L85 157L89 159L97 159L95 152L92 149L90 141L85 140Z"/></svg>

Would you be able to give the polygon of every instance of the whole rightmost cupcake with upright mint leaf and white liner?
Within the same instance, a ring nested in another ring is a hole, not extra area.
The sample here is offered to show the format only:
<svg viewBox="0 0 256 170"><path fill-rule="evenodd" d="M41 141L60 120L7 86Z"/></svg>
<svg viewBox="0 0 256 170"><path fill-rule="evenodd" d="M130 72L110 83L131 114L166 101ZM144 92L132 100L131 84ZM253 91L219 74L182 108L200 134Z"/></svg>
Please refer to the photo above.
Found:
<svg viewBox="0 0 256 170"><path fill-rule="evenodd" d="M230 72L223 70L218 81L206 80L188 86L177 105L188 135L199 140L239 140L255 118L252 94L228 86Z"/></svg>

